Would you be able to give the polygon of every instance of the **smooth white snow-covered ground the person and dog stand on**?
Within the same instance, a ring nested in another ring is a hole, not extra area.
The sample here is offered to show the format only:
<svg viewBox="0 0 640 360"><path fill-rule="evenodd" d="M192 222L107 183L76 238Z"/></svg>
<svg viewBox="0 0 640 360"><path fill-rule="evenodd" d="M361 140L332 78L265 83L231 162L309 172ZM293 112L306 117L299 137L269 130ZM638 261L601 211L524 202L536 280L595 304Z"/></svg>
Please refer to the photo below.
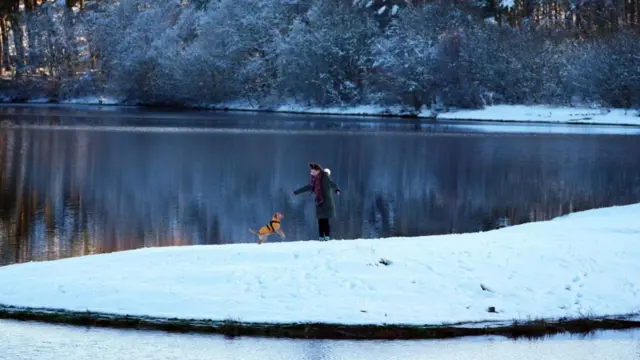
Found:
<svg viewBox="0 0 640 360"><path fill-rule="evenodd" d="M624 314L640 311L638 218L640 204L474 234L149 248L10 265L0 268L0 304L343 324Z"/></svg>

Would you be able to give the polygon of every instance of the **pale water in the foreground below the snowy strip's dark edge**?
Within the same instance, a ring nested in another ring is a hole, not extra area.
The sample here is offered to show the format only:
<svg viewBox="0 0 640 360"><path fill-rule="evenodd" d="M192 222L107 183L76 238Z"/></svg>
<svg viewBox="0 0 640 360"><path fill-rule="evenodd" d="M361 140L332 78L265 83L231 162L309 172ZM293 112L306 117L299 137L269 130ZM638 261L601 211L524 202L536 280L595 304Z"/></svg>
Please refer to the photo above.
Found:
<svg viewBox="0 0 640 360"><path fill-rule="evenodd" d="M324 341L229 339L0 320L0 354L6 360L636 360L640 358L640 331L535 341L500 337Z"/></svg>

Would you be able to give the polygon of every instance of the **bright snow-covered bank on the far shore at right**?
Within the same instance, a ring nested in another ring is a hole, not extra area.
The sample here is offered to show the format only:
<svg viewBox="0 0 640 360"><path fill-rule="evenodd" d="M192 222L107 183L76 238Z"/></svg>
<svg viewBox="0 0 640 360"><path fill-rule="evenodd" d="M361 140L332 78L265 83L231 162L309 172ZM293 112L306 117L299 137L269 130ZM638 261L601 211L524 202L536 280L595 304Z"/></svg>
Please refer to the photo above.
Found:
<svg viewBox="0 0 640 360"><path fill-rule="evenodd" d="M519 121L640 126L640 111L631 109L496 105L479 110L438 114L441 120Z"/></svg>

